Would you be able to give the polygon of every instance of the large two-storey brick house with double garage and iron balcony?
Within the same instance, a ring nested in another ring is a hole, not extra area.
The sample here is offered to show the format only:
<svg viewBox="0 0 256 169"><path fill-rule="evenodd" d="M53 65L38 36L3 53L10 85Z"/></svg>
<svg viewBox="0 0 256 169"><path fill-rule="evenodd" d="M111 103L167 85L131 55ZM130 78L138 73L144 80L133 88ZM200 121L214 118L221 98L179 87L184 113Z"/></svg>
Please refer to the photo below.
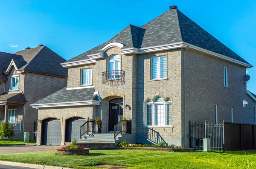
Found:
<svg viewBox="0 0 256 169"><path fill-rule="evenodd" d="M80 126L95 116L102 133L110 133L87 135L83 128L79 141L113 141L121 115L131 119L131 134L117 137L130 143L189 146L189 120L255 123L243 80L253 66L176 6L170 9L62 64L67 87L32 104L41 120L37 144L79 139Z"/></svg>

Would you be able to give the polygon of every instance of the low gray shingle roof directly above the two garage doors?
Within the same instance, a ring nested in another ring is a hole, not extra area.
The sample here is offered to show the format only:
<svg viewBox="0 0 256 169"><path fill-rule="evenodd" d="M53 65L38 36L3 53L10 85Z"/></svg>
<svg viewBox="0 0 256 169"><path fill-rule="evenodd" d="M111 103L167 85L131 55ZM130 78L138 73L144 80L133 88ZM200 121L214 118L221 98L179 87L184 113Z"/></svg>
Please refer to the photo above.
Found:
<svg viewBox="0 0 256 169"><path fill-rule="evenodd" d="M64 103L87 100L99 100L98 96L94 95L94 88L67 90L67 87L64 87L34 104Z"/></svg>

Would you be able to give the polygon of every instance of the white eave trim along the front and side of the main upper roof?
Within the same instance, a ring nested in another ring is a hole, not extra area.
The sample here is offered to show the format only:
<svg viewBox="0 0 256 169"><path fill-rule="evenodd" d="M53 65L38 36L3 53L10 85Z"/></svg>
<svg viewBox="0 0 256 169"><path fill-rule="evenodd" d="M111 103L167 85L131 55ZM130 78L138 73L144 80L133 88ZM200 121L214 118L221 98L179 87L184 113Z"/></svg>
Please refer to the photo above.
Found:
<svg viewBox="0 0 256 169"><path fill-rule="evenodd" d="M108 50L109 48L112 48L112 47L122 48L123 47L122 45L123 44L116 43L116 42L110 43L108 45L105 45L102 48L102 51L100 53L88 55L90 57L90 59L62 63L61 65L63 67L71 67L71 66L76 66L76 65L87 65L87 64L90 64L90 63L95 63L95 59L103 58L103 54L106 50ZM241 65L245 68L252 68L253 67L253 65L250 65L248 63L241 62L239 60L230 58L228 56L217 54L217 53L209 51L207 49L200 48L200 47L195 46L195 45L191 45L187 42L177 42L177 43L171 43L171 44L166 44L166 45L157 45L157 46L152 46L152 47L147 47L147 48L125 48L125 49L121 49L120 51L121 51L121 54L145 54L145 53L151 53L151 52L157 52L157 51L166 51L166 50L177 49L177 48L187 48L189 46L190 46L190 48L192 48L194 50L204 52L206 54L209 54L209 55L227 60L229 62L233 62L233 63Z"/></svg>

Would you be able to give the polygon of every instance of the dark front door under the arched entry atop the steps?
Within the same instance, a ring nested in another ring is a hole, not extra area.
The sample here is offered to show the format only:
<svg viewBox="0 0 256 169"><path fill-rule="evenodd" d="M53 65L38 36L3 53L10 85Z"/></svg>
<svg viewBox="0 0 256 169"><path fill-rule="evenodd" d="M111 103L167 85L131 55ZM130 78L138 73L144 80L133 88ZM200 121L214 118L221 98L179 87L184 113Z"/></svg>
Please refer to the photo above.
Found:
<svg viewBox="0 0 256 169"><path fill-rule="evenodd" d="M114 126L123 115L123 99L113 99L109 101L109 131L114 131Z"/></svg>

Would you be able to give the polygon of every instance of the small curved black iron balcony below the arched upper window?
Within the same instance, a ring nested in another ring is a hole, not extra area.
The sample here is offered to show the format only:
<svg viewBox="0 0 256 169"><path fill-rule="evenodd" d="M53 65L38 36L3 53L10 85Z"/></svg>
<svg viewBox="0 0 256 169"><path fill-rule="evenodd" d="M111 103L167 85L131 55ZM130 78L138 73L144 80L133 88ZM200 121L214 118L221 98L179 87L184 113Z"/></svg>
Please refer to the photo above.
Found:
<svg viewBox="0 0 256 169"><path fill-rule="evenodd" d="M111 70L102 72L102 83L105 85L123 85L125 84L125 71Z"/></svg>

